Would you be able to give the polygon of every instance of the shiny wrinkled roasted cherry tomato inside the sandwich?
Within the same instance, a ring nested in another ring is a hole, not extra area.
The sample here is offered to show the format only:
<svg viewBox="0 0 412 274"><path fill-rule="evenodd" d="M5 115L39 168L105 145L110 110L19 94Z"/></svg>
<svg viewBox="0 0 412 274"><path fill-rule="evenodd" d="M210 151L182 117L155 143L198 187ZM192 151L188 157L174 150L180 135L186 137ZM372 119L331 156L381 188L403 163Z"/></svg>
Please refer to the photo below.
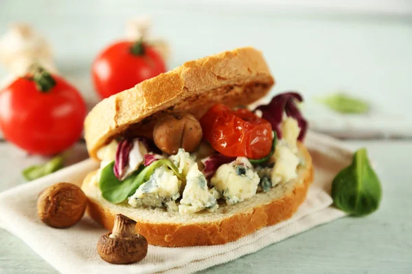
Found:
<svg viewBox="0 0 412 274"><path fill-rule="evenodd" d="M271 152L271 123L249 110L216 104L202 116L201 125L203 138L223 155L260 159Z"/></svg>

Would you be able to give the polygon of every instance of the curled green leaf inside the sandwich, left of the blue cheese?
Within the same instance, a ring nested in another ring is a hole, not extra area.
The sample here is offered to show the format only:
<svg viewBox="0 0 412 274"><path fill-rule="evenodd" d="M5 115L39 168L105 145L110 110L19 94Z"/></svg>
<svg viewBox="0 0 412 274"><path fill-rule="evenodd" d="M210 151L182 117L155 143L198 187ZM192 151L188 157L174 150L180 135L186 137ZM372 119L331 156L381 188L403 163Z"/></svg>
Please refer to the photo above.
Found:
<svg viewBox="0 0 412 274"><path fill-rule="evenodd" d="M124 181L117 179L115 173L113 173L114 166L115 162L112 162L102 170L99 182L103 198L111 203L122 203L127 197L133 195L141 184L150 179L155 169L161 166L168 167L181 181L185 181L185 178L179 173L177 167L168 159L157 160L146 167L141 165L137 171L124 179Z"/></svg>

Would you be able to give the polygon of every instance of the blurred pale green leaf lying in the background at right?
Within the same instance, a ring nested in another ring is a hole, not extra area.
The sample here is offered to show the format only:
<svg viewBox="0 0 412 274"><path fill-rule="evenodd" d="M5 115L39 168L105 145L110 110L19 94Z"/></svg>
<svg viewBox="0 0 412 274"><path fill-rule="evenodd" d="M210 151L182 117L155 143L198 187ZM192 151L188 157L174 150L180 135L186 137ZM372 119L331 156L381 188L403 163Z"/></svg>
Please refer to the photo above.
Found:
<svg viewBox="0 0 412 274"><path fill-rule="evenodd" d="M369 112L369 103L343 93L336 93L318 99L318 101L328 106L331 110L343 114L364 114Z"/></svg>

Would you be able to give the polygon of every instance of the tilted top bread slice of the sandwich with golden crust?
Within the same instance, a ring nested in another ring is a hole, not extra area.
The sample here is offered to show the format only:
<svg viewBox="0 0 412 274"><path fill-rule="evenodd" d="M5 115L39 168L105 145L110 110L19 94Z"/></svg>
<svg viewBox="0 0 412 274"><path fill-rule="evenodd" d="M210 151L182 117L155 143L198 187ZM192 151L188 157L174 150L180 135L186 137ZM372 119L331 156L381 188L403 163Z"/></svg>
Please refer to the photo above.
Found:
<svg viewBox="0 0 412 274"><path fill-rule="evenodd" d="M119 134L151 137L164 112L198 119L214 103L249 105L273 84L262 53L251 47L186 62L98 103L84 122L87 149L97 158L98 149Z"/></svg>

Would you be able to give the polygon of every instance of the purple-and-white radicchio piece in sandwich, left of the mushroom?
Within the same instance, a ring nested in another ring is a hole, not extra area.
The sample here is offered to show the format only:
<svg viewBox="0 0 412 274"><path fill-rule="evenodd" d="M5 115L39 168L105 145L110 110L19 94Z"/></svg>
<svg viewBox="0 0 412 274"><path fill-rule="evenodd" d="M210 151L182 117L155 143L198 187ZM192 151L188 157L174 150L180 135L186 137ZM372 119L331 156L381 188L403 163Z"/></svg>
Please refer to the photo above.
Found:
<svg viewBox="0 0 412 274"><path fill-rule="evenodd" d="M141 162L144 162L144 155L150 151L158 152L159 149L148 138L137 137L132 140L126 138L119 142L113 168L113 173L117 179L126 179L128 175L139 169Z"/></svg>

